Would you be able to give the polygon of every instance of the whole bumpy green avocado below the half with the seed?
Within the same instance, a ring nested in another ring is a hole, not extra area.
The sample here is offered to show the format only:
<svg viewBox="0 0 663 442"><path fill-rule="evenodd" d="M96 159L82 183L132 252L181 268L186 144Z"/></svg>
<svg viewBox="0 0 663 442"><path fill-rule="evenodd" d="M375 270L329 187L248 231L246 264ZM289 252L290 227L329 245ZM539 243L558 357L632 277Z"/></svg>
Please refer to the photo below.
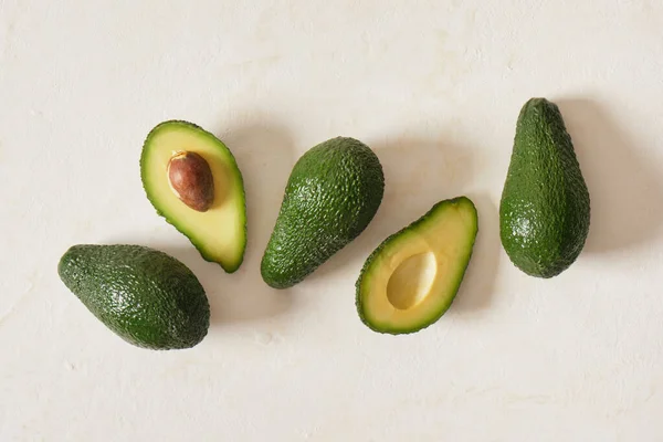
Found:
<svg viewBox="0 0 663 442"><path fill-rule="evenodd" d="M154 350L190 348L208 333L210 306L180 261L140 245L80 244L61 257L66 287L110 330Z"/></svg>

